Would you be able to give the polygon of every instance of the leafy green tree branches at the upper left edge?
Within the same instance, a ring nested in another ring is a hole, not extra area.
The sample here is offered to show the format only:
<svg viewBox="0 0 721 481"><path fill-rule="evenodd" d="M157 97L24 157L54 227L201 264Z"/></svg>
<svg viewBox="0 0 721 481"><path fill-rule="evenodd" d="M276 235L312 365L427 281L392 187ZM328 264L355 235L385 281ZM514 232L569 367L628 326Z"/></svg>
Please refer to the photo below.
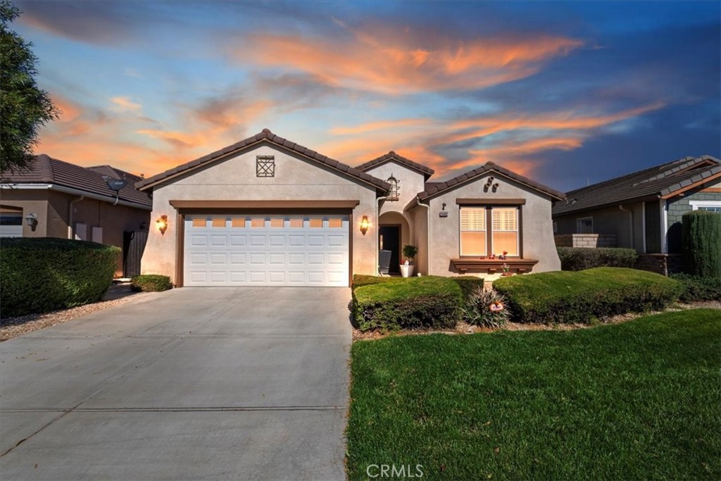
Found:
<svg viewBox="0 0 721 481"><path fill-rule="evenodd" d="M27 166L38 130L59 113L35 84L32 43L8 28L19 14L12 3L0 1L0 174Z"/></svg>

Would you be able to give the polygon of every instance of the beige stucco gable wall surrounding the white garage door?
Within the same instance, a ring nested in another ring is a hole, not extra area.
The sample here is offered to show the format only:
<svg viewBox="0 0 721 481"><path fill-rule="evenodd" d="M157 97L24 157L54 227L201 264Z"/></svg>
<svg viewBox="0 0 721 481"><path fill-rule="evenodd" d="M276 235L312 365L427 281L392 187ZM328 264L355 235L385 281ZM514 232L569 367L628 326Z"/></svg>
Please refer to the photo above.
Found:
<svg viewBox="0 0 721 481"><path fill-rule="evenodd" d="M256 177L258 155L275 156L275 177ZM175 280L176 211L170 200L360 200L353 211L353 273L377 271L375 187L332 171L317 162L283 149L261 144L249 151L154 188L151 229L143 253L142 272L169 275ZM167 215L165 235L155 220ZM371 226L364 236L358 229L363 216Z"/></svg>

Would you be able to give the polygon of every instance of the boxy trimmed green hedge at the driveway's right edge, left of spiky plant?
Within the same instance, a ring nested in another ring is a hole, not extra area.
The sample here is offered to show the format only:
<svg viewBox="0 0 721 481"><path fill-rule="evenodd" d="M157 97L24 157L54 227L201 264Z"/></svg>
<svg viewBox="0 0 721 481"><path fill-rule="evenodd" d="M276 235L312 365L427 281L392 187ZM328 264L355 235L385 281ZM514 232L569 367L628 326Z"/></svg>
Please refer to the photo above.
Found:
<svg viewBox="0 0 721 481"><path fill-rule="evenodd" d="M360 330L454 327L462 302L451 278L399 279L353 289L353 319Z"/></svg>

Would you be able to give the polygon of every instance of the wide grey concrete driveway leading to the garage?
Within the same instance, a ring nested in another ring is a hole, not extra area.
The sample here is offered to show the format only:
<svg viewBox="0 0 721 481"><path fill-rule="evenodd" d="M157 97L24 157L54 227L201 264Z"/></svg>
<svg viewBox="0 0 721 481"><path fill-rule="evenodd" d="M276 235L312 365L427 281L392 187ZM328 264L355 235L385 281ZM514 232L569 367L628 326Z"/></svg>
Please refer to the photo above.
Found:
<svg viewBox="0 0 721 481"><path fill-rule="evenodd" d="M345 479L348 301L182 288L0 344L2 479Z"/></svg>

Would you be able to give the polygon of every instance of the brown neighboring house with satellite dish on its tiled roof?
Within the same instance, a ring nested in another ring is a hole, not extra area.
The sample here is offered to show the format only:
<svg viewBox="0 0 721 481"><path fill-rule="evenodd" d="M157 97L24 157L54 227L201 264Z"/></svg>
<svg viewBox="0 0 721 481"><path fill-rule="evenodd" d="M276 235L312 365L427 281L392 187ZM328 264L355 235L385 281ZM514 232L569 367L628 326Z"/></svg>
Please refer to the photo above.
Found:
<svg viewBox="0 0 721 481"><path fill-rule="evenodd" d="M80 167L47 155L35 156L27 170L3 177L0 237L61 237L115 245L124 250L116 275L130 268L132 247L139 250L139 264L143 246L130 237L139 232L138 239L144 241L153 205L148 193L135 188L142 177L109 165ZM114 180L125 180L125 185ZM116 193L110 185L122 187Z"/></svg>

